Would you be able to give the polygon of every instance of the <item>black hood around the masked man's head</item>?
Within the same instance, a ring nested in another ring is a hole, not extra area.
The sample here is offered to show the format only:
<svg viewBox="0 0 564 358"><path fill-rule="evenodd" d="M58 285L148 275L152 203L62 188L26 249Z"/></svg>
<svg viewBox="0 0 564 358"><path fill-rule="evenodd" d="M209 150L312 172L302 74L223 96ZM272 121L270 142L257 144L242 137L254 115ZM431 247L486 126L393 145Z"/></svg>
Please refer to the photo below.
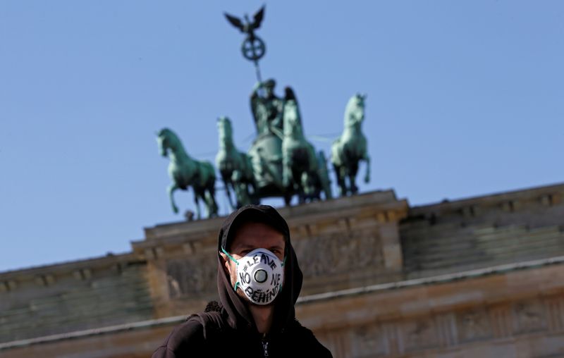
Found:
<svg viewBox="0 0 564 358"><path fill-rule="evenodd" d="M233 328L255 327L252 315L249 309L247 309L247 302L233 291L231 280L223 269L223 259L219 255L221 248L227 249L228 244L233 239L234 232L240 224L247 221L271 226L271 228L282 233L286 239L285 282L281 292L278 293L278 297L274 300L274 320L270 330L271 333L276 333L295 319L294 304L298 300L300 290L302 289L303 275L290 241L288 224L272 206L246 205L237 211L233 211L223 222L223 226L219 230L217 243L217 290L219 292L219 300L229 316L230 326Z"/></svg>

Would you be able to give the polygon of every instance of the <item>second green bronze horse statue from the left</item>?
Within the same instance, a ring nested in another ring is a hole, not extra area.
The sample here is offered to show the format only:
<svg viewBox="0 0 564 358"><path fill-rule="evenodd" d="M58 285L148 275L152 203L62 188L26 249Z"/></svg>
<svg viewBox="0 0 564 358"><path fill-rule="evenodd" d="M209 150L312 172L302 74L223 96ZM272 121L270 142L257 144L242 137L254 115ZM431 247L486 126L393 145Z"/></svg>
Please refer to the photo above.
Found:
<svg viewBox="0 0 564 358"><path fill-rule="evenodd" d="M239 152L233 143L233 128L227 117L217 119L219 132L219 152L216 155L216 166L221 174L229 204L233 209L246 204L258 204L255 175L252 173L250 156ZM231 190L235 192L236 202L233 204Z"/></svg>

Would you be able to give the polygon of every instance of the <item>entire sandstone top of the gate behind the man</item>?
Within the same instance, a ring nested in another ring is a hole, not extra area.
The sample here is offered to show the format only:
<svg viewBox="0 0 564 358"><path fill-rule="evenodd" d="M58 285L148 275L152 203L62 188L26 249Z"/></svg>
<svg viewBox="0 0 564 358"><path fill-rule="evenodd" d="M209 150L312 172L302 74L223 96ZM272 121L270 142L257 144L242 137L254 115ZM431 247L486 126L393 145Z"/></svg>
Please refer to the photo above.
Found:
<svg viewBox="0 0 564 358"><path fill-rule="evenodd" d="M410 207L386 190L282 208L305 276L298 319L334 357L564 357L563 195ZM221 221L0 273L0 355L149 357L216 299Z"/></svg>

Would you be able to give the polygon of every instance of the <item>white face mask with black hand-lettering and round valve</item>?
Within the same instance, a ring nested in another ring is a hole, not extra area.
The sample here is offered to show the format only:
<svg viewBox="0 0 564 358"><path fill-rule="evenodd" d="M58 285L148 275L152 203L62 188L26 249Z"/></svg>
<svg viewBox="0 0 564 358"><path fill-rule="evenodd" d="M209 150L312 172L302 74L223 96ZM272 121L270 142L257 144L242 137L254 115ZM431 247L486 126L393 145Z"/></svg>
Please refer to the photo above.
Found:
<svg viewBox="0 0 564 358"><path fill-rule="evenodd" d="M240 287L250 302L255 304L274 301L284 282L283 261L267 249L254 249L238 260L225 249L221 250L237 264L237 282L233 290L237 291Z"/></svg>

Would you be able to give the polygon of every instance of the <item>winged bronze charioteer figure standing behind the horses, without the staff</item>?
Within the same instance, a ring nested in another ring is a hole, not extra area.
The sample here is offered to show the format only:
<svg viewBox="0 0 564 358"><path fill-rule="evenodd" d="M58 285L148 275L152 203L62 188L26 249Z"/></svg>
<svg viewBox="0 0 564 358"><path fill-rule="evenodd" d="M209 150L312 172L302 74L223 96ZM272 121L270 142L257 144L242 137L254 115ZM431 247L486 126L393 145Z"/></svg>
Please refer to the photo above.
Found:
<svg viewBox="0 0 564 358"><path fill-rule="evenodd" d="M276 81L257 82L251 93L251 111L257 125L257 134L282 133L283 99L274 94ZM264 91L264 94L260 93Z"/></svg>

